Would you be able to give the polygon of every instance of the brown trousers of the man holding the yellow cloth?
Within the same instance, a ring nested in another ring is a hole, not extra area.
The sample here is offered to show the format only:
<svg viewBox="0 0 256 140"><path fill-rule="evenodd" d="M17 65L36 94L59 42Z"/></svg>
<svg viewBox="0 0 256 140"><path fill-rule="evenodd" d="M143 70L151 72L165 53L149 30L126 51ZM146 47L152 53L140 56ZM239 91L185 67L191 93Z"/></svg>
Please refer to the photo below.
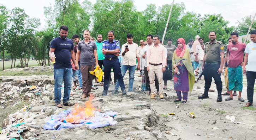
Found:
<svg viewBox="0 0 256 140"><path fill-rule="evenodd" d="M89 71L94 70L95 65L89 65L89 66L82 66L81 65L81 74L82 74L82 80L83 80L83 94L88 95L91 93L91 85L93 84L93 79L95 78L94 75L91 75Z"/></svg>

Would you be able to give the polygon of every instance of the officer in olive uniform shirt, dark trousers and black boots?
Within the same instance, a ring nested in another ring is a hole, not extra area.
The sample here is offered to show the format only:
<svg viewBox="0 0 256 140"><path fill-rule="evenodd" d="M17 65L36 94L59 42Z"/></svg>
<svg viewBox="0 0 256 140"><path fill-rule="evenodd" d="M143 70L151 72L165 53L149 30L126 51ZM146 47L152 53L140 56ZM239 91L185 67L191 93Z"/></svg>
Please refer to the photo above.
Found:
<svg viewBox="0 0 256 140"><path fill-rule="evenodd" d="M202 64L204 79L206 82L204 84L204 93L201 96L198 96L198 98L209 98L208 91L211 87L213 77L218 91L217 102L221 102L222 81L220 75L224 64L224 45L222 42L216 40L215 31L210 31L208 37L210 42L205 43Z"/></svg>

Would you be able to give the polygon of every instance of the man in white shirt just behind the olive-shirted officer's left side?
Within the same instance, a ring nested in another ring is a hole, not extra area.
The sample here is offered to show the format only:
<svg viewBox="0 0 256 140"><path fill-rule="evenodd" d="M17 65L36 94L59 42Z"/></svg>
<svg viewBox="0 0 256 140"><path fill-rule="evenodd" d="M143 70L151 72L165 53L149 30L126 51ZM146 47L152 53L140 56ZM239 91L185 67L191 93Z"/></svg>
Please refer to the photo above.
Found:
<svg viewBox="0 0 256 140"><path fill-rule="evenodd" d="M203 38L199 38L198 41L200 43L196 46L196 57L198 58L198 65L194 65L194 66L195 66L195 69L196 69L195 72L197 72L197 74L201 74L202 64L203 64L203 57L204 57Z"/></svg>

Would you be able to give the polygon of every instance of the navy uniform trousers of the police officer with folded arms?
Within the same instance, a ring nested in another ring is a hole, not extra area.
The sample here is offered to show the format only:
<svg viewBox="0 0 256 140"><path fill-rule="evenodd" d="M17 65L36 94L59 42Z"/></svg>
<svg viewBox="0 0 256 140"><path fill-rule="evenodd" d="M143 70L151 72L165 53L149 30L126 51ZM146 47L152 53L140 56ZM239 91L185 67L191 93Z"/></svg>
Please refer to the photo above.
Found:
<svg viewBox="0 0 256 140"><path fill-rule="evenodd" d="M111 68L113 68L113 71L117 76L121 90L122 91L125 90L124 79L121 74L120 63L118 59L114 59L114 60L105 59L103 63L104 63L104 85L103 85L104 90L108 91L109 77L111 76Z"/></svg>

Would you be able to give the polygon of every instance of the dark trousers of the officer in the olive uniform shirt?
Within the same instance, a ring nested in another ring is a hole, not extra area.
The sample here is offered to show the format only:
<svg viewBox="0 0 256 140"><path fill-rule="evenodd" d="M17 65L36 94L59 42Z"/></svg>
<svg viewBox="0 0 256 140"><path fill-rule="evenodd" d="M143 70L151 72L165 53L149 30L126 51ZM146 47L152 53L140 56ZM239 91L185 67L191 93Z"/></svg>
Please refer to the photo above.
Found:
<svg viewBox="0 0 256 140"><path fill-rule="evenodd" d="M205 84L204 84L204 93L208 94L208 91L211 87L211 83L213 81L212 77L214 78L214 83L216 84L217 91L218 93L221 93L222 91L222 81L220 78L221 74L218 74L218 69L220 68L220 64L214 64L214 65L206 65L204 64L204 79L205 79Z"/></svg>

